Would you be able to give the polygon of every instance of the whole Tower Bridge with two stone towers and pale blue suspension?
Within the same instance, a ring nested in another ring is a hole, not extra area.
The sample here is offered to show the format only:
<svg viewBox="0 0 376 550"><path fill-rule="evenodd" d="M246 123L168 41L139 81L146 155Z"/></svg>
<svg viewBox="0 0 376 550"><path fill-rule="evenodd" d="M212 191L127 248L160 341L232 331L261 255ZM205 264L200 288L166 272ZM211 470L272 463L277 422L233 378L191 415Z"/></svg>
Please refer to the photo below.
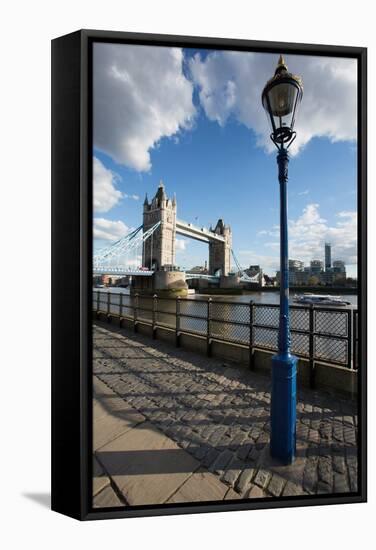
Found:
<svg viewBox="0 0 376 550"><path fill-rule="evenodd" d="M176 268L176 235L208 244L208 272L193 274ZM140 250L141 249L141 250ZM133 260L130 256L134 255ZM214 228L197 227L177 218L177 201L169 198L160 182L155 196L143 204L142 225L94 256L93 273L132 275L133 286L140 290L187 289L186 280L202 279L222 286L239 282L258 282L244 270L231 273L232 232L222 219ZM235 263L239 267L234 256ZM149 279L149 280L148 280Z"/></svg>

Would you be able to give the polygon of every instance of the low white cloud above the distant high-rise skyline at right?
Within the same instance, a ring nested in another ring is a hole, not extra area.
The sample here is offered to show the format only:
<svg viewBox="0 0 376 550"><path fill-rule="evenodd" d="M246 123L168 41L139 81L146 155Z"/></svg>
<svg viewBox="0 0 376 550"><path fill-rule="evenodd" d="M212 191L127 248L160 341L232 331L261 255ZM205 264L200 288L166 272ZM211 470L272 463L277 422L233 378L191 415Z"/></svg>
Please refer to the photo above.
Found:
<svg viewBox="0 0 376 550"><path fill-rule="evenodd" d="M319 211L317 203L307 204L302 214L296 220L289 220L289 257L302 260L309 265L313 259L324 259L324 243L332 245L332 260L343 260L350 271L354 272L357 264L357 213L341 211L336 214L336 223L329 224ZM263 231L263 234L275 238L264 244L265 247L279 251L279 228L277 226ZM259 232L260 234L260 232ZM249 253L247 258L256 263ZM261 265L273 264L277 266L278 257L264 258ZM277 263L275 263L277 262Z"/></svg>

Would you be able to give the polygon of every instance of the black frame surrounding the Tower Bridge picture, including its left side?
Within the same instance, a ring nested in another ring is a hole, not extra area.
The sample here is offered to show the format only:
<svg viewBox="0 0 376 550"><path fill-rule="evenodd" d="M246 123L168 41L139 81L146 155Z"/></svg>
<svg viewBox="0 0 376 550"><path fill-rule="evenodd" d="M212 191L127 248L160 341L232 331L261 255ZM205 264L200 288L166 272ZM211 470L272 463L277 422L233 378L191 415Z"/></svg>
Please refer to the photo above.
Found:
<svg viewBox="0 0 376 550"><path fill-rule="evenodd" d="M356 494L129 509L91 504L93 42L351 57L358 61L359 483ZM365 502L367 499L366 48L80 30L52 41L52 509L80 520Z"/></svg>

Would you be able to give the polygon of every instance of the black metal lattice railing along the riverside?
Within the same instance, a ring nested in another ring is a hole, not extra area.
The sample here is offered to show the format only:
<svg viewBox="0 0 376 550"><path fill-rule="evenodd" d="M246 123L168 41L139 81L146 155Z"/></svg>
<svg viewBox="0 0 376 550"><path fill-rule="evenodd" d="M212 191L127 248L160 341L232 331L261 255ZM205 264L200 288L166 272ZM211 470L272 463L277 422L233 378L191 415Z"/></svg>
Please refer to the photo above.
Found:
<svg viewBox="0 0 376 550"><path fill-rule="evenodd" d="M278 348L277 304L130 296L93 290L93 311L106 315L108 320L118 318L120 324L128 320L135 331L140 324L149 325L153 338L158 328L174 331L177 346L182 334L200 337L206 340L209 356L212 342L247 347L251 368L256 350ZM291 351L308 359L312 385L316 362L358 369L357 324L357 309L290 306Z"/></svg>

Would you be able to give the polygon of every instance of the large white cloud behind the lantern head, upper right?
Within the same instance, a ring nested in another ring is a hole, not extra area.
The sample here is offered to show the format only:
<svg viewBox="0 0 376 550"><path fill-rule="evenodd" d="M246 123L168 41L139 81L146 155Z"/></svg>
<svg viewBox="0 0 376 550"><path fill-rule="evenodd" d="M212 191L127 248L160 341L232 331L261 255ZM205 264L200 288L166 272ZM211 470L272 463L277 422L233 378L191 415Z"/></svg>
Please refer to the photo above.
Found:
<svg viewBox="0 0 376 550"><path fill-rule="evenodd" d="M261 93L274 74L276 62L277 55L251 52L213 52L204 60L196 54L190 61L207 117L221 126L234 118L253 129L258 145L268 151L274 145L269 139ZM286 62L291 72L302 76L304 85L292 153L317 136L331 141L356 140L356 60L289 55Z"/></svg>

